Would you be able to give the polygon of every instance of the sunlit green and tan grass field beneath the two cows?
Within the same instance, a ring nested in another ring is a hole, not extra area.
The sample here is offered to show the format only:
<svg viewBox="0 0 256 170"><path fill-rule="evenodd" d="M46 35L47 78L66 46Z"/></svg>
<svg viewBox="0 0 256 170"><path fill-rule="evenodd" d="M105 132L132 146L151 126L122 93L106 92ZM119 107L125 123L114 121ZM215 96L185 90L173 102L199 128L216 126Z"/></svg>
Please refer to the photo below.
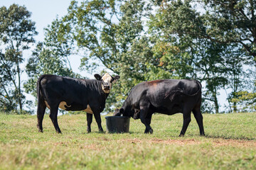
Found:
<svg viewBox="0 0 256 170"><path fill-rule="evenodd" d="M153 115L152 135L133 119L126 134L99 133L95 119L87 134L86 115L61 115L60 135L48 115L39 133L36 115L0 113L0 169L256 169L256 113L203 118L206 137L195 118L178 137L181 114Z"/></svg>

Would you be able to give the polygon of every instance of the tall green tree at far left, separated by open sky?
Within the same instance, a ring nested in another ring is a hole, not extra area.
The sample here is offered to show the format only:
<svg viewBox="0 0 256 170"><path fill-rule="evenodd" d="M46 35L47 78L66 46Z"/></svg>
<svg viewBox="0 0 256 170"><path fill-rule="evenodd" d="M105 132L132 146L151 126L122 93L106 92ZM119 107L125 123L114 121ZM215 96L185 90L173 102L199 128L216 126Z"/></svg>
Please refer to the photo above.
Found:
<svg viewBox="0 0 256 170"><path fill-rule="evenodd" d="M23 50L28 50L37 35L31 13L25 6L0 8L0 107L4 111L22 113L25 96L22 91L21 63Z"/></svg>

